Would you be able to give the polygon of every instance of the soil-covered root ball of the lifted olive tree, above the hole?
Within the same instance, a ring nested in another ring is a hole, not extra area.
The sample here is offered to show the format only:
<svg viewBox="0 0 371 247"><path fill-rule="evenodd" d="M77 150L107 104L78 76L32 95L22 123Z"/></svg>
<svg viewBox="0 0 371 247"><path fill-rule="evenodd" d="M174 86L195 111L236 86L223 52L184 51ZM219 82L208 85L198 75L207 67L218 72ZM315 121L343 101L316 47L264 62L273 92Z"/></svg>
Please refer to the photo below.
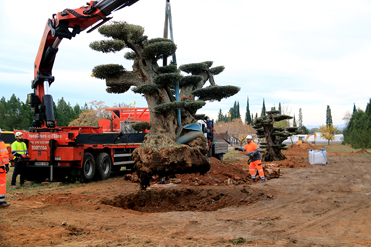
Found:
<svg viewBox="0 0 371 247"><path fill-rule="evenodd" d="M200 173L210 170L209 160L197 149L175 143L167 134L147 134L144 142L134 150L134 169L145 190L155 174L166 177L173 174Z"/></svg>

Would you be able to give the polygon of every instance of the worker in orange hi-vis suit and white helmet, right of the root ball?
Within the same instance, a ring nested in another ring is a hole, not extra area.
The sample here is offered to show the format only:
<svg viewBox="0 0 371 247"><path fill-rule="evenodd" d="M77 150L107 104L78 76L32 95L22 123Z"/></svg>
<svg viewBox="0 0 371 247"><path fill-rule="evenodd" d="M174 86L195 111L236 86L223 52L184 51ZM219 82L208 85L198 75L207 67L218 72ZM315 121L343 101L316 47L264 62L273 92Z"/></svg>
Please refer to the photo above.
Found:
<svg viewBox="0 0 371 247"><path fill-rule="evenodd" d="M250 156L250 165L249 170L251 174L251 179L256 182L257 179L255 177L255 168L258 169L259 176L261 179L260 183L265 183L264 171L262 166L262 155L260 154L259 146L253 142L253 137L251 135L246 136L246 144L243 148L234 148L235 150L239 150L242 152L247 152L247 155Z"/></svg>

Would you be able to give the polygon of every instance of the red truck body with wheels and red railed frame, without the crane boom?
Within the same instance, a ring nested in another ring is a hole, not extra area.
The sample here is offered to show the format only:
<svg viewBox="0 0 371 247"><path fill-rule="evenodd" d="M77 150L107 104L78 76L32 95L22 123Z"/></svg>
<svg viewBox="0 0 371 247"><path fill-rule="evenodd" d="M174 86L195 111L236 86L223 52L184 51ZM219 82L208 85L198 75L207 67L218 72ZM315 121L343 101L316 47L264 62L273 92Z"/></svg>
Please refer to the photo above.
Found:
<svg viewBox="0 0 371 247"><path fill-rule="evenodd" d="M100 127L57 127L54 129L30 128L23 133L23 140L30 155L27 164L27 180L45 180L72 176L88 182L104 180L112 171L121 167L132 169L131 154L143 142L146 133L134 130L103 131L107 121L121 123L149 121L148 108L109 108L114 111L112 119L101 119ZM117 112L118 111L118 112ZM117 115L118 113L118 115ZM11 149L9 148L11 155ZM11 156L13 158L13 156ZM105 157L104 159L102 157ZM102 160L103 159L103 160Z"/></svg>

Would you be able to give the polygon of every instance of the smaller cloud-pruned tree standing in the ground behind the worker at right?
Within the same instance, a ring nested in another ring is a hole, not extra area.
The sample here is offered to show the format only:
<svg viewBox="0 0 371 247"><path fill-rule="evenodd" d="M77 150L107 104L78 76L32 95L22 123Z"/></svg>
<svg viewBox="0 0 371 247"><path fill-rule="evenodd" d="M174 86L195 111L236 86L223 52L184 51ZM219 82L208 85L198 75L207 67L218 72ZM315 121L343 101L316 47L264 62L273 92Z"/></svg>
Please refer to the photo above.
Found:
<svg viewBox="0 0 371 247"><path fill-rule="evenodd" d="M263 161L279 161L286 159L281 150L287 149L282 144L289 136L299 134L298 127L274 127L275 122L292 119L287 115L280 115L280 111L268 111L266 115L254 119L254 128L257 131L257 137L265 137L265 143L261 143L261 148L265 148Z"/></svg>

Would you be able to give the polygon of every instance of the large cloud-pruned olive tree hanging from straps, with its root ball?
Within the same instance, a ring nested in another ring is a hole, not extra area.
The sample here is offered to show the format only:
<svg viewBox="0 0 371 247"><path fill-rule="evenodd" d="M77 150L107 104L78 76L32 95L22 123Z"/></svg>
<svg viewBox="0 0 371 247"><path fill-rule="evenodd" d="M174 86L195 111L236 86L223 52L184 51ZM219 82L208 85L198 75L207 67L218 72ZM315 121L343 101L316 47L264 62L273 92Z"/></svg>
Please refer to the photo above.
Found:
<svg viewBox="0 0 371 247"><path fill-rule="evenodd" d="M94 76L106 81L107 92L125 93L132 87L148 103L150 133L132 154L141 188L149 185L154 174L165 177L174 173L208 171L208 147L203 134L199 132L184 143L176 140L179 130L180 135L190 131L182 126L196 122L194 116L206 100L220 101L239 91L239 87L215 84L214 76L223 72L224 66L212 67L211 61L184 64L179 68L173 62L159 66L159 59L176 51L171 40L148 39L143 35L143 27L127 22L115 21L98 31L109 39L92 42L90 48L105 53L131 49L124 57L133 61L133 70L128 71L119 64L104 64L92 69ZM188 75L183 76L180 71ZM179 85L179 101L175 99L175 85Z"/></svg>

